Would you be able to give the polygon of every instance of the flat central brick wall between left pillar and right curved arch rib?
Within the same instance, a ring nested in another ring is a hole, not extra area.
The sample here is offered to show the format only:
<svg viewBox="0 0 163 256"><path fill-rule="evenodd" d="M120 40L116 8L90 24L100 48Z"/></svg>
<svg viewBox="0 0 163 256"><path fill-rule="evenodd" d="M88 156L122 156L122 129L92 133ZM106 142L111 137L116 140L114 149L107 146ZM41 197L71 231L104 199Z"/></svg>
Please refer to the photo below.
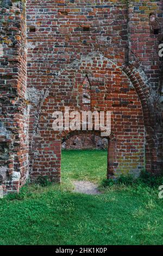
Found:
<svg viewBox="0 0 163 256"><path fill-rule="evenodd" d="M137 175L145 167L145 127L141 100L123 71L128 62L127 1L29 0L27 25L32 179L49 175L60 180L61 138L66 135L52 129L52 115L64 106L112 111L108 177Z"/></svg>

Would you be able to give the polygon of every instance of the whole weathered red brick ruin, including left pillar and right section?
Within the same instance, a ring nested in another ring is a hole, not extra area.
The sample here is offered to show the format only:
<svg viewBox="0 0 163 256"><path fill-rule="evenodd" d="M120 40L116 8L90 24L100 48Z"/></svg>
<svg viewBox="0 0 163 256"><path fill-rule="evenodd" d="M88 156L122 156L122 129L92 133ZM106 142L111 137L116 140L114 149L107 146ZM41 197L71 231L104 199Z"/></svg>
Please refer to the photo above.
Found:
<svg viewBox="0 0 163 256"><path fill-rule="evenodd" d="M111 111L108 178L162 172L162 25L162 0L0 0L4 194L60 182L61 142L77 136L53 130L65 106Z"/></svg>

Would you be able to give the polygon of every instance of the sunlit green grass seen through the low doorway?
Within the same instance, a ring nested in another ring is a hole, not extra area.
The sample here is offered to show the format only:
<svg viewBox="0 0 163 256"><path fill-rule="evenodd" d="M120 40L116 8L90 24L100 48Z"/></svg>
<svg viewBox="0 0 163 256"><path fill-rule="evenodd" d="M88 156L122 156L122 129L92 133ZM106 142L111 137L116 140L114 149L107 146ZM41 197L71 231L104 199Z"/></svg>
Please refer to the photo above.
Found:
<svg viewBox="0 0 163 256"><path fill-rule="evenodd" d="M62 150L62 180L101 182L107 173L106 150Z"/></svg>

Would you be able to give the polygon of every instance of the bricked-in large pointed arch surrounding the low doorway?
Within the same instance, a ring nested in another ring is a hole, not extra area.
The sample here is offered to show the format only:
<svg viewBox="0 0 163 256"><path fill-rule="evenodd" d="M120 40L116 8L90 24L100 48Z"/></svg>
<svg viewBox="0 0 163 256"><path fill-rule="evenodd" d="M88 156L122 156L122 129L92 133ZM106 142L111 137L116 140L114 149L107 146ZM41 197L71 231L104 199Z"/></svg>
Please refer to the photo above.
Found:
<svg viewBox="0 0 163 256"><path fill-rule="evenodd" d="M109 59L101 66L101 54L81 59L78 70L68 66L45 93L37 121L32 127L30 155L31 179L48 175L55 182L61 177L61 140L71 132L53 130L54 111L110 111L111 132L108 143L107 177L121 174L138 176L145 168L145 123L141 99L122 67ZM97 70L98 66L98 70ZM118 72L118 74L117 74ZM110 77L111 76L111 77ZM135 80L134 80L135 81ZM62 82L64 84L62 84Z"/></svg>

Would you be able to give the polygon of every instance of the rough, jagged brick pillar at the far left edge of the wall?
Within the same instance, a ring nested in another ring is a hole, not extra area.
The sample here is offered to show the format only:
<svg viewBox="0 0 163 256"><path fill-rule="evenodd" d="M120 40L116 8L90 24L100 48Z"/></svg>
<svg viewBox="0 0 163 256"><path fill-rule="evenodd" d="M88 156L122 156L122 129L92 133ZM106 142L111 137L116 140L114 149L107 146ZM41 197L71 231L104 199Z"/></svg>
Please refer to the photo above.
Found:
<svg viewBox="0 0 163 256"><path fill-rule="evenodd" d="M0 36L0 185L7 193L28 177L25 1L0 1Z"/></svg>

